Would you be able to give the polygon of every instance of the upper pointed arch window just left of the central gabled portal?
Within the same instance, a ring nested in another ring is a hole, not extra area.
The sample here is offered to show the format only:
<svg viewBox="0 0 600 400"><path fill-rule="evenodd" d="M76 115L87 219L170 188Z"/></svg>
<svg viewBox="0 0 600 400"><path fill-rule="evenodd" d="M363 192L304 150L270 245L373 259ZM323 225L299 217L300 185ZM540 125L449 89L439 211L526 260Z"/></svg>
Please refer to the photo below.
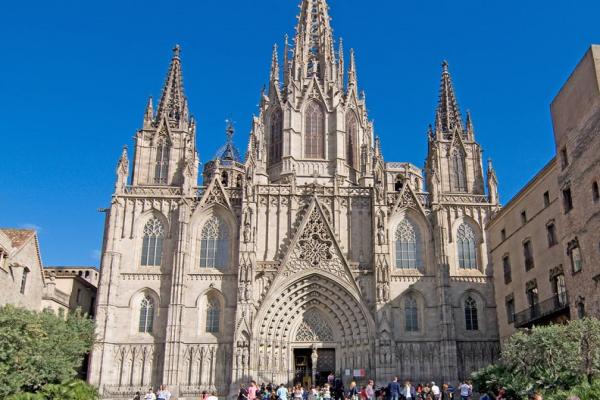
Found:
<svg viewBox="0 0 600 400"><path fill-rule="evenodd" d="M229 230L218 216L211 217L200 232L200 268L229 266Z"/></svg>

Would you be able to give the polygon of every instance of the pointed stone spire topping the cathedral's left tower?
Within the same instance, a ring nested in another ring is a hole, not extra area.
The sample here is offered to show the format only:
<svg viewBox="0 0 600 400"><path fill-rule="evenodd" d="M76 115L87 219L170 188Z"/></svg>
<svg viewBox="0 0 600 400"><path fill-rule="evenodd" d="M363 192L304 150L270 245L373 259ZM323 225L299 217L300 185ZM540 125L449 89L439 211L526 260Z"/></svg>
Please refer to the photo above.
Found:
<svg viewBox="0 0 600 400"><path fill-rule="evenodd" d="M180 51L179 45L175 45L156 113L157 120L166 118L172 126L178 126L188 115L187 101L183 93Z"/></svg>

